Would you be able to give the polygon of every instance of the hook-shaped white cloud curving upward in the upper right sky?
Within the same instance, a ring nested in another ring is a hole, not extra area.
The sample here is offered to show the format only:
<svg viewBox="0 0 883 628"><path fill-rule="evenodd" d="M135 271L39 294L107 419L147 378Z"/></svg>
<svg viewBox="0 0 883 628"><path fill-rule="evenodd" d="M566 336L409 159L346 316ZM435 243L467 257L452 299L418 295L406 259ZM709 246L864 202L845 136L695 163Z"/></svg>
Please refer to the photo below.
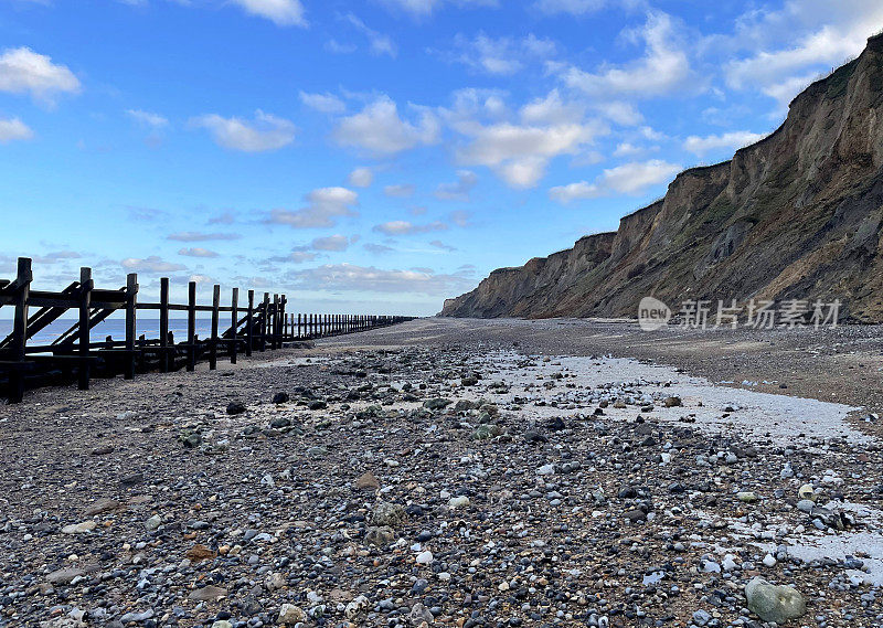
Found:
<svg viewBox="0 0 883 628"><path fill-rule="evenodd" d="M562 74L564 83L599 98L616 95L649 97L682 87L690 76L690 62L677 42L671 17L659 11L649 13L647 23L635 36L646 44L640 60L620 67L602 66L597 73L568 66Z"/></svg>

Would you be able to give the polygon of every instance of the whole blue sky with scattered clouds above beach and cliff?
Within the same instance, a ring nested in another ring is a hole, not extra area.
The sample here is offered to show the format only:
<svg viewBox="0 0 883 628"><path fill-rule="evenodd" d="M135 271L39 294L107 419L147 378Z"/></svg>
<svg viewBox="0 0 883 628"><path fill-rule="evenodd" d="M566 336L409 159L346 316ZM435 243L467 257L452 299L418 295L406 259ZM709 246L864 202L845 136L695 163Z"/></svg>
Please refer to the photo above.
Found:
<svg viewBox="0 0 883 628"><path fill-rule="evenodd" d="M775 129L868 0L0 0L0 277L429 315Z"/></svg>

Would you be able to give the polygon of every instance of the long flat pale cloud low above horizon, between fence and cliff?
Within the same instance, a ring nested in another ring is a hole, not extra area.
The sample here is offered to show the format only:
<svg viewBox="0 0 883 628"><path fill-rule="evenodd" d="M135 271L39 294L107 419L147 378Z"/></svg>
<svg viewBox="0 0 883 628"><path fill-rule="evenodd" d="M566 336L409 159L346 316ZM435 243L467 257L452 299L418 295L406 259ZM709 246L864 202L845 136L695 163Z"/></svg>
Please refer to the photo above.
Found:
<svg viewBox="0 0 883 628"><path fill-rule="evenodd" d="M468 280L459 275L435 274L429 269L386 270L354 264L326 264L287 275L298 289L330 289L370 292L449 295Z"/></svg>

